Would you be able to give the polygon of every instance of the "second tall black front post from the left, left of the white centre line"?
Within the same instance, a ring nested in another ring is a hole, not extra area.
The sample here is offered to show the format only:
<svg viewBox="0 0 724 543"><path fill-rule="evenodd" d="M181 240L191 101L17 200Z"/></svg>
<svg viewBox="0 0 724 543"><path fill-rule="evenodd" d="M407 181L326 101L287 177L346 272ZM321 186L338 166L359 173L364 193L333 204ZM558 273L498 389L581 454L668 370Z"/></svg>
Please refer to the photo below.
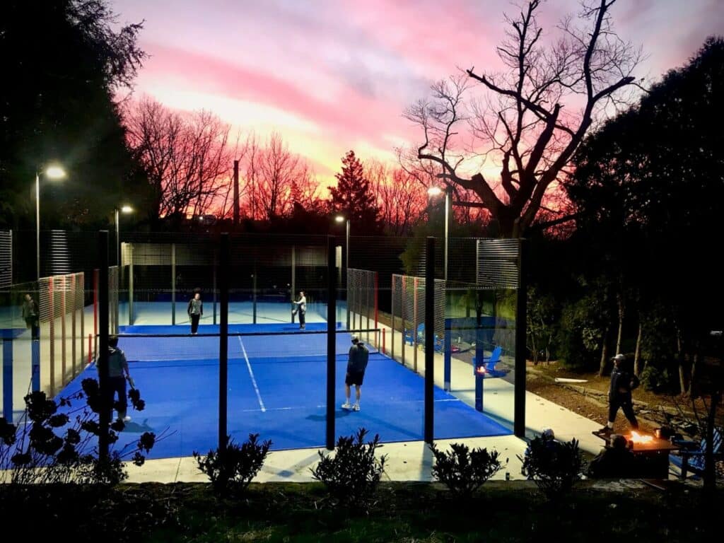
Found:
<svg viewBox="0 0 724 543"><path fill-rule="evenodd" d="M227 402L229 394L229 234L219 240L219 453L227 446Z"/></svg>

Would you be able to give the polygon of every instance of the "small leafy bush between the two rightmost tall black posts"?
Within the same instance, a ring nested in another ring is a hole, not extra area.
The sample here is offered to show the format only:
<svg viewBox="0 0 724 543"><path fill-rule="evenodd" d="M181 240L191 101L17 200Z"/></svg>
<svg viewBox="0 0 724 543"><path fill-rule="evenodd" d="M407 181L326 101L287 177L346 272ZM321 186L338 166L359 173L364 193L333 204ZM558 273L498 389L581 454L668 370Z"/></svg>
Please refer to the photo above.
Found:
<svg viewBox="0 0 724 543"><path fill-rule="evenodd" d="M469 450L461 443L450 445L450 452L439 450L434 444L430 445L430 450L435 457L432 476L456 497L470 497L502 468L497 450Z"/></svg>

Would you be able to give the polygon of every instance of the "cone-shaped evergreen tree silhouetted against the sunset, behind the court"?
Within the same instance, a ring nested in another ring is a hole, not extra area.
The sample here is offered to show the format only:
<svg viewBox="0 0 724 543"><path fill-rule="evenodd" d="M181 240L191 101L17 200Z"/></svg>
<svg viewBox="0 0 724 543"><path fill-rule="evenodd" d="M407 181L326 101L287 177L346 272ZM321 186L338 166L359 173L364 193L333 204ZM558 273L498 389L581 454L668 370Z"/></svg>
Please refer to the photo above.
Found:
<svg viewBox="0 0 724 543"><path fill-rule="evenodd" d="M329 187L329 208L332 213L350 219L350 227L355 234L381 233L376 198L354 151L348 151L344 156L342 173L334 177L337 177L337 186Z"/></svg>

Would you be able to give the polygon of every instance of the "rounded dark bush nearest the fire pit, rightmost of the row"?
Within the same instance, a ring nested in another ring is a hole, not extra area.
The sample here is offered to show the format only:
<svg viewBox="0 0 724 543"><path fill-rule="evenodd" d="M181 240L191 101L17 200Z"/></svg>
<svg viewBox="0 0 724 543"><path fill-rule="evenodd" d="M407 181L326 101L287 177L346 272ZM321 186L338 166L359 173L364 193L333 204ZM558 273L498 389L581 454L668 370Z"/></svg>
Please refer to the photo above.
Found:
<svg viewBox="0 0 724 543"><path fill-rule="evenodd" d="M526 449L522 473L535 481L549 500L558 500L568 494L581 477L583 460L578 441L562 443L536 437Z"/></svg>

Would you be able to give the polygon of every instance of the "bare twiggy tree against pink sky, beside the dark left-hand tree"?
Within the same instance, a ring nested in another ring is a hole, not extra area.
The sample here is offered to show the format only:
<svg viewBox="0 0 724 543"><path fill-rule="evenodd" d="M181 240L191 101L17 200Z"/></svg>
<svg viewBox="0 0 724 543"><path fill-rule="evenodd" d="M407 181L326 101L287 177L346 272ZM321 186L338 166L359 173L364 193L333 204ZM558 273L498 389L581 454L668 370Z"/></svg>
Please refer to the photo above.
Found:
<svg viewBox="0 0 724 543"><path fill-rule="evenodd" d="M125 110L130 148L148 172L158 217L203 214L231 167L230 126L209 111L182 114L151 98Z"/></svg>

